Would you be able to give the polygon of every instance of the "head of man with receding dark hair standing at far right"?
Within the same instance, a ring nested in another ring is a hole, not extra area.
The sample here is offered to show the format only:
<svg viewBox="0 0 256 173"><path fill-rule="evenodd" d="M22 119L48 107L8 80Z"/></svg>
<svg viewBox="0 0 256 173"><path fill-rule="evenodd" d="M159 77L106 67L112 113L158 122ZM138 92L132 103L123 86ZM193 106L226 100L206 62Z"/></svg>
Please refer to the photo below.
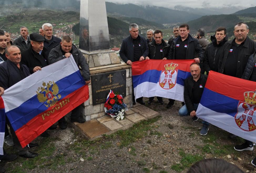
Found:
<svg viewBox="0 0 256 173"><path fill-rule="evenodd" d="M249 27L247 24L239 22L234 26L234 35L236 40L243 42L246 39L248 33Z"/></svg>

